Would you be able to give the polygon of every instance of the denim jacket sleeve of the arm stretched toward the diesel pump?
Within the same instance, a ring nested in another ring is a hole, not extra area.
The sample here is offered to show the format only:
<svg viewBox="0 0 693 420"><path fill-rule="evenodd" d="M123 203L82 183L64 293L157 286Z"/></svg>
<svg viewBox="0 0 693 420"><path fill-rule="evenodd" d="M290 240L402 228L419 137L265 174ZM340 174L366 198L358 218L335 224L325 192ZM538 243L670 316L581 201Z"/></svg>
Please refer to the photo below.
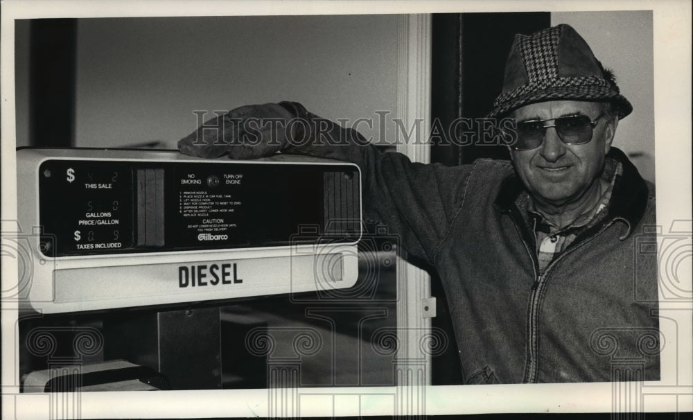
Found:
<svg viewBox="0 0 693 420"><path fill-rule="evenodd" d="M432 264L462 204L471 167L412 163L401 153L380 152L356 130L321 119L299 103L279 105L301 120L292 124L284 151L357 164L365 218L398 236L407 254Z"/></svg>

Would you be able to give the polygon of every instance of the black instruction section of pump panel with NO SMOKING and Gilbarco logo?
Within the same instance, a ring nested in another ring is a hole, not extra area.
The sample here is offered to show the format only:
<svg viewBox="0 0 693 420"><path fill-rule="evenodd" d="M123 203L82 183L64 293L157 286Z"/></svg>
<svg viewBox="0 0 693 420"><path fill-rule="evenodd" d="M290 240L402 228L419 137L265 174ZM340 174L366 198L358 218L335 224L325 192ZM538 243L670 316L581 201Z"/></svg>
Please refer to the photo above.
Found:
<svg viewBox="0 0 693 420"><path fill-rule="evenodd" d="M166 173L166 245L290 245L301 227L359 227L357 174L347 164L179 164Z"/></svg>

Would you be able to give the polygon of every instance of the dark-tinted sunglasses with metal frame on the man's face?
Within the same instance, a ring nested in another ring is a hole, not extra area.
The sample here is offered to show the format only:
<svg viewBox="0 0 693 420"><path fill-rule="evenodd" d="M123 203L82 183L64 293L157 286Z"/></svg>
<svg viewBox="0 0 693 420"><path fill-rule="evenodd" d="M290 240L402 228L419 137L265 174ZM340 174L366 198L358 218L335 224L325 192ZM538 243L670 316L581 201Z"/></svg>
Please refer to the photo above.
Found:
<svg viewBox="0 0 693 420"><path fill-rule="evenodd" d="M559 139L565 144L584 144L592 140L593 128L604 114L590 120L586 115L561 116L560 118L523 121L517 124L515 150L532 150L541 146L547 128L556 128ZM547 124L553 121L553 124Z"/></svg>

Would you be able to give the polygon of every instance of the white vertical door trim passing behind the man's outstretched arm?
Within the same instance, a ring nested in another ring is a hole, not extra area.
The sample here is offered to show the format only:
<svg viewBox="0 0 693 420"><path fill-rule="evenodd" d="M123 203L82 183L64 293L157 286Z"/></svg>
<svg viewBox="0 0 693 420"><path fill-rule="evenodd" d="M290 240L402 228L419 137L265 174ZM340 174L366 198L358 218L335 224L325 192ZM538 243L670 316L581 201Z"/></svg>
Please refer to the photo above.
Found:
<svg viewBox="0 0 693 420"><path fill-rule="evenodd" d="M414 130L408 141L398 142L396 150L412 161L430 163L430 92L431 92L431 15L402 15L399 19L397 118L404 127ZM417 126L418 125L418 126ZM409 263L398 264L396 381L407 409L403 414L425 412L423 385L430 385L430 352L426 351L430 334L430 277ZM422 350L424 349L424 350ZM407 401L409 400L409 401Z"/></svg>

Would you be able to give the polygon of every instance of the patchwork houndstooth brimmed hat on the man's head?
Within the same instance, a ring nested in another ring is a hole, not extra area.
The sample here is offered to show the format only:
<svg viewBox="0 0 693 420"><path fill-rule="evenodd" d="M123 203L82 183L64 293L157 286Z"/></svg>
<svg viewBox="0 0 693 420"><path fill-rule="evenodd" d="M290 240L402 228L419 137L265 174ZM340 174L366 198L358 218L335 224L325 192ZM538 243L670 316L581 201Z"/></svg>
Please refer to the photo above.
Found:
<svg viewBox="0 0 693 420"><path fill-rule="evenodd" d="M610 100L620 119L633 111L590 46L569 25L515 35L505 64L503 89L489 118L545 100Z"/></svg>

